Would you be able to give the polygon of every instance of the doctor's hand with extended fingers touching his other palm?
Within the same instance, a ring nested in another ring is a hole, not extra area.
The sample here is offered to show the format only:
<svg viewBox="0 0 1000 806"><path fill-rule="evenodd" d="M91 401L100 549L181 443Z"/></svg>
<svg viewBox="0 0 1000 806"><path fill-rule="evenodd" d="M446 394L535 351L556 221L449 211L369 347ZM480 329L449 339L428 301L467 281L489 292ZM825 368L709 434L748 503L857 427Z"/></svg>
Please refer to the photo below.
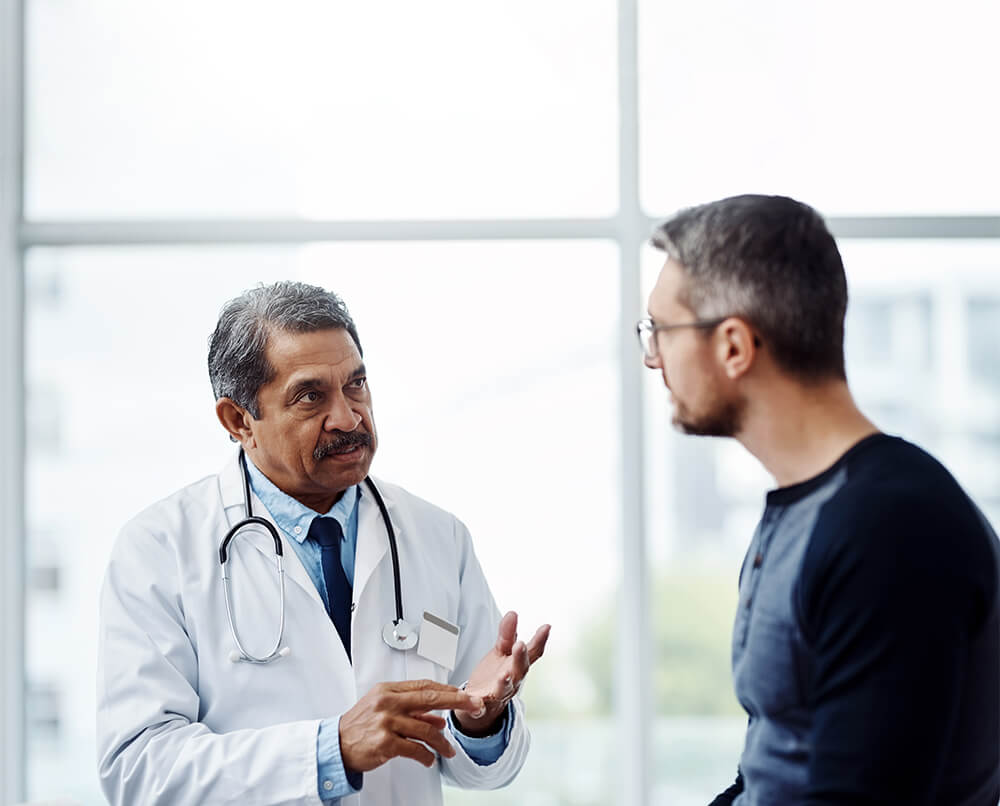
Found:
<svg viewBox="0 0 1000 806"><path fill-rule="evenodd" d="M436 759L424 744L451 758L455 750L442 732L445 721L429 713L449 708L480 711L485 705L477 696L433 680L379 683L340 718L344 767L368 772L397 756L430 767Z"/></svg>

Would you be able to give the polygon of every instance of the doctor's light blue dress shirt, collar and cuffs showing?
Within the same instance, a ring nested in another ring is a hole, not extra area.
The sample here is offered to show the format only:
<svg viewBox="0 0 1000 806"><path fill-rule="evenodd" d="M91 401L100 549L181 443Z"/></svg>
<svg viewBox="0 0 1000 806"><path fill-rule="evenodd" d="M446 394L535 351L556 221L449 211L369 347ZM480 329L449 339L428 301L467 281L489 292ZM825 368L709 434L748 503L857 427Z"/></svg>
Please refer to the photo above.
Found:
<svg viewBox="0 0 1000 806"><path fill-rule="evenodd" d="M278 528L288 538L286 541L298 555L299 560L309 574L309 578L319 591L323 603L329 610L329 597L326 591L326 580L323 577L323 550L314 540L307 540L309 527L313 518L320 513L309 509L305 504L296 501L275 486L267 476L257 469L250 457L247 457L247 470L250 473L250 486L261 503L274 518ZM335 518L340 524L344 538L340 544L340 562L344 566L351 587L354 586L354 555L358 545L358 501L361 498L361 487L350 487L337 500L329 512L323 517ZM475 738L466 736L455 725L448 714L448 725L452 733L462 745L466 754L480 766L493 764L507 749L510 741L510 730L514 721L514 712L507 707L503 725L492 736ZM319 770L319 796L322 800L338 800L347 795L353 795L361 790L363 776L360 773L349 773L344 769L340 755L340 717L324 719L320 722L316 737L316 762Z"/></svg>

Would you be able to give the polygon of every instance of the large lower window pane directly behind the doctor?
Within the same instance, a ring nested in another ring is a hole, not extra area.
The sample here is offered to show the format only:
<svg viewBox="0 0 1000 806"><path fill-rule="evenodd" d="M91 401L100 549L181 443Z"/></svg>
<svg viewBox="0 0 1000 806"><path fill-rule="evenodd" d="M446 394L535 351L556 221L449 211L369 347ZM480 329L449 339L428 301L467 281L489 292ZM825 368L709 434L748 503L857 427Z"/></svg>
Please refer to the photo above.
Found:
<svg viewBox="0 0 1000 806"><path fill-rule="evenodd" d="M609 666L583 661L595 641L614 654L593 622L618 586L617 262L591 242L32 250L31 796L99 802L97 593L111 543L134 513L232 457L207 336L225 300L292 278L338 290L357 321L375 472L468 524L499 606L526 630L553 624L525 687L528 765L475 802L611 802Z"/></svg>

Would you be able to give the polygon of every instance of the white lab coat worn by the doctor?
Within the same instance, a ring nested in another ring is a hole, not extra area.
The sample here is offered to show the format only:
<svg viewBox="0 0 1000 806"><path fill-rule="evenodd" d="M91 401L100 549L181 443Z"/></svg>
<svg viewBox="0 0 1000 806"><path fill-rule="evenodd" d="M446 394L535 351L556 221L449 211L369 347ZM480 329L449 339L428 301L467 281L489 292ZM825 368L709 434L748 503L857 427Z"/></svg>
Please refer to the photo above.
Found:
<svg viewBox="0 0 1000 806"><path fill-rule="evenodd" d="M499 613L454 516L377 482L396 529L404 616L424 611L461 628L451 673L415 650L389 649L395 614L392 561L378 506L365 490L358 512L353 666L295 551L284 548L287 657L233 663L219 542L244 517L237 461L185 487L128 523L112 551L101 594L97 744L101 783L115 806L321 804L316 734L376 683L430 678L463 683L496 640ZM254 514L270 518L254 497ZM240 638L254 655L277 634L274 544L258 528L231 544L230 576ZM448 733L456 755L430 769L393 759L364 776L342 806L440 804L441 778L466 788L509 783L528 752L514 700L510 742L480 767Z"/></svg>

